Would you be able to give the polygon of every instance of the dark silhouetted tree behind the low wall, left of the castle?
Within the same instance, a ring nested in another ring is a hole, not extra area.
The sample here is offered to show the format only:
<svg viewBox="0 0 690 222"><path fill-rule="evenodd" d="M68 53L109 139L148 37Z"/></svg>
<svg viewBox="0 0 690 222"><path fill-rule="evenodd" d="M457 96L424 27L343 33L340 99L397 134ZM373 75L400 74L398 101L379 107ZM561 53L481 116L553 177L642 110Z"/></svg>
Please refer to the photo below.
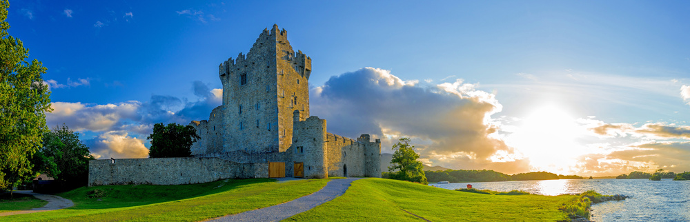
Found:
<svg viewBox="0 0 690 222"><path fill-rule="evenodd" d="M156 123L153 125L153 134L146 139L151 140L148 157L189 157L192 143L201 137L191 125Z"/></svg>

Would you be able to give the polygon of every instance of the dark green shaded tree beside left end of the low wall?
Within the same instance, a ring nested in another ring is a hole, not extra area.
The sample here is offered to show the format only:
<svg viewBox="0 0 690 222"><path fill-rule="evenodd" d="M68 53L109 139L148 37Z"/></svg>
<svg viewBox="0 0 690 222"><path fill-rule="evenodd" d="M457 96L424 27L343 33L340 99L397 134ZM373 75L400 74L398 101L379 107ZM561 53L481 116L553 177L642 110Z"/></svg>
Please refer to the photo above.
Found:
<svg viewBox="0 0 690 222"><path fill-rule="evenodd" d="M43 147L34 155L34 171L48 174L62 188L88 184L88 161L95 159L67 125L43 134Z"/></svg>

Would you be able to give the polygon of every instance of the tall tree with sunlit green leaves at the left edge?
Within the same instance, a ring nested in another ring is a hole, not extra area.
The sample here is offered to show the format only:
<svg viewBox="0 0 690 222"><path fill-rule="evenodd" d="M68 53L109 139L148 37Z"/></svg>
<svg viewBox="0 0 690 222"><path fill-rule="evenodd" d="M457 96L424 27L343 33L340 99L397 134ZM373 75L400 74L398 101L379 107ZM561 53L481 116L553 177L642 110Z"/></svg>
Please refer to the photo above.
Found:
<svg viewBox="0 0 690 222"><path fill-rule="evenodd" d="M8 34L10 3L0 0L0 190L32 179L29 159L41 146L50 112L50 91L41 74L46 68L29 57L19 39Z"/></svg>

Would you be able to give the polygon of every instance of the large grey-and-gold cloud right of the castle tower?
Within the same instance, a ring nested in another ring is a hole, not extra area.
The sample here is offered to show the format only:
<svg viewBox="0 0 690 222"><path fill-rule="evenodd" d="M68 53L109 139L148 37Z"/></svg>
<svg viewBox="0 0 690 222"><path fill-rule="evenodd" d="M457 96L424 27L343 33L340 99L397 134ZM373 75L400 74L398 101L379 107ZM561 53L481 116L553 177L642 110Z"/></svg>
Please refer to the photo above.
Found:
<svg viewBox="0 0 690 222"><path fill-rule="evenodd" d="M513 153L491 137L497 131L491 114L502 109L493 94L462 79L428 88L415 83L377 68L341 74L311 90L311 114L327 119L329 132L382 138L384 152L391 152L395 139L411 137L431 164L524 171L526 161L491 161L499 151Z"/></svg>

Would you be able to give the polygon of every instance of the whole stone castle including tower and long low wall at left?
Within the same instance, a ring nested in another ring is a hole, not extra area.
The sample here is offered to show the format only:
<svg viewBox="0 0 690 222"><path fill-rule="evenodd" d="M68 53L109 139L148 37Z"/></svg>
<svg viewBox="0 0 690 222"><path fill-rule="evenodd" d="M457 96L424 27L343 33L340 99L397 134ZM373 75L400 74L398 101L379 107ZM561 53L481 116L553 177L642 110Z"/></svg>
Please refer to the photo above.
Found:
<svg viewBox="0 0 690 222"><path fill-rule="evenodd" d="M89 185L205 183L228 178L381 177L381 142L327 132L309 116L311 58L295 52L277 25L249 52L219 65L223 104L192 121L190 158L95 160Z"/></svg>

